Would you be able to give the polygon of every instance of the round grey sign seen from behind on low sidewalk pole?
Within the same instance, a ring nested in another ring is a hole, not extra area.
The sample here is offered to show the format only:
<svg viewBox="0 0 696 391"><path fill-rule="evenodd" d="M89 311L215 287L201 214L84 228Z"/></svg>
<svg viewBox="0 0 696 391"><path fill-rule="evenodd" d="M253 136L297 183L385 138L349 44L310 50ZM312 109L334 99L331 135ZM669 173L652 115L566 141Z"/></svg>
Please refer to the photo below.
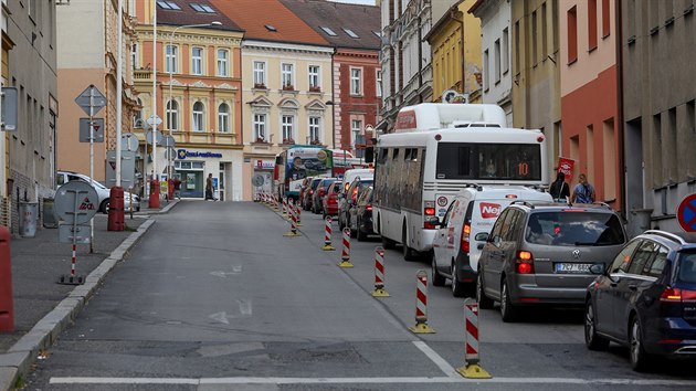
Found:
<svg viewBox="0 0 696 391"><path fill-rule="evenodd" d="M99 210L99 198L92 184L83 180L71 180L56 190L53 207L65 223L83 224L92 220Z"/></svg>

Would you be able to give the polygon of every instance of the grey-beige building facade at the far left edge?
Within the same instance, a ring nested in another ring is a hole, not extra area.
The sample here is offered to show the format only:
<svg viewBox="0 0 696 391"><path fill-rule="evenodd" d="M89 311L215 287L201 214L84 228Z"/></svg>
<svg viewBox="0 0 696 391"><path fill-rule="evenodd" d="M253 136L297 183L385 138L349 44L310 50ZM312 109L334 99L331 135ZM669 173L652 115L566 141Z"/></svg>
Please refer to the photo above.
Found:
<svg viewBox="0 0 696 391"><path fill-rule="evenodd" d="M2 86L18 96L17 129L4 129L0 140L0 224L17 234L20 203L54 196L56 2L2 0L0 8Z"/></svg>

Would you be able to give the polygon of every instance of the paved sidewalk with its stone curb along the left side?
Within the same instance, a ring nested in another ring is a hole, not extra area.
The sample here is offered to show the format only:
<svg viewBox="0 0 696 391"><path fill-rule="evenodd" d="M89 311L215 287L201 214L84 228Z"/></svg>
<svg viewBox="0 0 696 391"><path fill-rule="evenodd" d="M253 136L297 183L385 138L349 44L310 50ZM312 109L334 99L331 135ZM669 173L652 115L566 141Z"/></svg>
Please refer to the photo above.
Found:
<svg viewBox="0 0 696 391"><path fill-rule="evenodd" d="M143 205L140 212L126 213L124 231L108 231L107 215L94 218L93 253L89 244L78 244L75 274L86 277L84 285L61 285L70 275L72 244L59 242L57 229L39 226L34 237L12 237L12 290L14 331L0 332L0 391L13 390L25 378L43 349L48 349L70 325L99 286L102 278L124 258L155 223L150 214L166 213L177 201L161 202L159 209Z"/></svg>

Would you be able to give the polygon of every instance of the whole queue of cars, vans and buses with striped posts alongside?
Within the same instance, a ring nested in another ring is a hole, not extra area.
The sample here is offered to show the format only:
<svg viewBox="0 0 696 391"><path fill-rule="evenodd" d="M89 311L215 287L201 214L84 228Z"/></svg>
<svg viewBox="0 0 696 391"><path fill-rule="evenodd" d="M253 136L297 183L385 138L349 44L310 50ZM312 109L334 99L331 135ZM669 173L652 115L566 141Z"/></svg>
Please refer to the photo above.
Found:
<svg viewBox="0 0 696 391"><path fill-rule="evenodd" d="M276 191L259 201L287 219L286 236L302 234L307 214L320 216L321 249L336 250L340 267L354 267L351 239L377 242L372 296L388 295L386 251L423 264L413 332L430 332L429 286L464 298L464 377L487 374L477 366L477 332L468 332L479 310L510 324L539 309L577 311L587 349L624 347L639 372L696 358L696 234L630 237L618 211L593 192L589 202L577 194L588 184L573 189L561 175L560 189L549 188L539 130L507 128L498 106L467 106L402 108L396 131L373 140L365 160L340 158L352 162L342 170L333 169L331 150L291 148L276 157Z"/></svg>

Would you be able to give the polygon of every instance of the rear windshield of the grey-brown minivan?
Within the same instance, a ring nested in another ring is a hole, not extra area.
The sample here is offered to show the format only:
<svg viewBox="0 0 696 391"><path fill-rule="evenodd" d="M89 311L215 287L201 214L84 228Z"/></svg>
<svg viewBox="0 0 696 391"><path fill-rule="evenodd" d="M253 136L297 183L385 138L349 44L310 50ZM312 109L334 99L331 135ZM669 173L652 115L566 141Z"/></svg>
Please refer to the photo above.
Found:
<svg viewBox="0 0 696 391"><path fill-rule="evenodd" d="M618 245L625 242L621 221L613 213L549 211L532 213L527 242L565 246Z"/></svg>

